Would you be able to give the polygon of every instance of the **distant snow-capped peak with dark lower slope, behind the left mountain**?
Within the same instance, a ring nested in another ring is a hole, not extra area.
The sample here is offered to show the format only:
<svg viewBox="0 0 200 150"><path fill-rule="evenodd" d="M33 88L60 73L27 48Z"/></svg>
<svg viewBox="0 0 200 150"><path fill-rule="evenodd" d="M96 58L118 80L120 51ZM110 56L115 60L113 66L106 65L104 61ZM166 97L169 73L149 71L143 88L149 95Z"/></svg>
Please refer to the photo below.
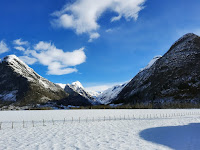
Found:
<svg viewBox="0 0 200 150"><path fill-rule="evenodd" d="M89 106L97 104L96 99L90 95L79 82L73 82L72 84L66 84L65 92L69 93L69 97L65 104L75 106Z"/></svg>

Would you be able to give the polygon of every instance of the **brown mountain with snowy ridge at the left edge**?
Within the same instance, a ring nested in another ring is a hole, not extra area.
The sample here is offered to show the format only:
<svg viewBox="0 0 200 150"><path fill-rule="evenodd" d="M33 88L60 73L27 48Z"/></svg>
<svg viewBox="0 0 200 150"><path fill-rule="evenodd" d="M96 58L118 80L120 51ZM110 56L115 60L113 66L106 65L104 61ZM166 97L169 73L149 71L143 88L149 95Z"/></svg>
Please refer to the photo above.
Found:
<svg viewBox="0 0 200 150"><path fill-rule="evenodd" d="M30 105L68 97L64 90L38 75L15 55L0 61L0 103Z"/></svg>

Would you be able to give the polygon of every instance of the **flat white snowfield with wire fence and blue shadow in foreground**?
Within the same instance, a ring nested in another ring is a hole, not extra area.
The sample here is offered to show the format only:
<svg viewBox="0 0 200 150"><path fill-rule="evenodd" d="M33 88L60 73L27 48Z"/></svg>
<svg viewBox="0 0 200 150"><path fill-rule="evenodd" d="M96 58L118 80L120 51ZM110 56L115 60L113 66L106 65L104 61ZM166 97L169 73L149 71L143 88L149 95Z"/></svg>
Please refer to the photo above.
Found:
<svg viewBox="0 0 200 150"><path fill-rule="evenodd" d="M0 150L200 149L199 109L1 111L0 123Z"/></svg>

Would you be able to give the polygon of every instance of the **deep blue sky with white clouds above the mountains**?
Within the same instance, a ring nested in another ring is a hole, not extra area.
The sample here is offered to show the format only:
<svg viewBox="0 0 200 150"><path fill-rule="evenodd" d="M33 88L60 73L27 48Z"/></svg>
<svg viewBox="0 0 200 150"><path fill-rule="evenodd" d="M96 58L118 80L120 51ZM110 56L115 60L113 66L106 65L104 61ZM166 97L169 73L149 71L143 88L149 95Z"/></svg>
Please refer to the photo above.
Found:
<svg viewBox="0 0 200 150"><path fill-rule="evenodd" d="M1 0L0 58L97 90L132 79L183 34L200 35L199 0L116 1Z"/></svg>

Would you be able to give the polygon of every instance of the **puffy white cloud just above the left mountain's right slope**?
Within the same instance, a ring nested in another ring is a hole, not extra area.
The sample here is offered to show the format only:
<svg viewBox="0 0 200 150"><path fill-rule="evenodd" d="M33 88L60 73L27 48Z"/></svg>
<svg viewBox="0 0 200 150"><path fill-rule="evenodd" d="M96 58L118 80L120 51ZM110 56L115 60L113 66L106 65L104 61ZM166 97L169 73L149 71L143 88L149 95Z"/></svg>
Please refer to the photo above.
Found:
<svg viewBox="0 0 200 150"><path fill-rule="evenodd" d="M34 46L34 50L27 50L25 54L29 58L36 59L40 64L48 66L48 74L63 75L77 72L75 66L86 61L84 48L72 52L64 52L54 44L40 41ZM24 58L28 60L29 58ZM36 61L34 61L36 62Z"/></svg>

